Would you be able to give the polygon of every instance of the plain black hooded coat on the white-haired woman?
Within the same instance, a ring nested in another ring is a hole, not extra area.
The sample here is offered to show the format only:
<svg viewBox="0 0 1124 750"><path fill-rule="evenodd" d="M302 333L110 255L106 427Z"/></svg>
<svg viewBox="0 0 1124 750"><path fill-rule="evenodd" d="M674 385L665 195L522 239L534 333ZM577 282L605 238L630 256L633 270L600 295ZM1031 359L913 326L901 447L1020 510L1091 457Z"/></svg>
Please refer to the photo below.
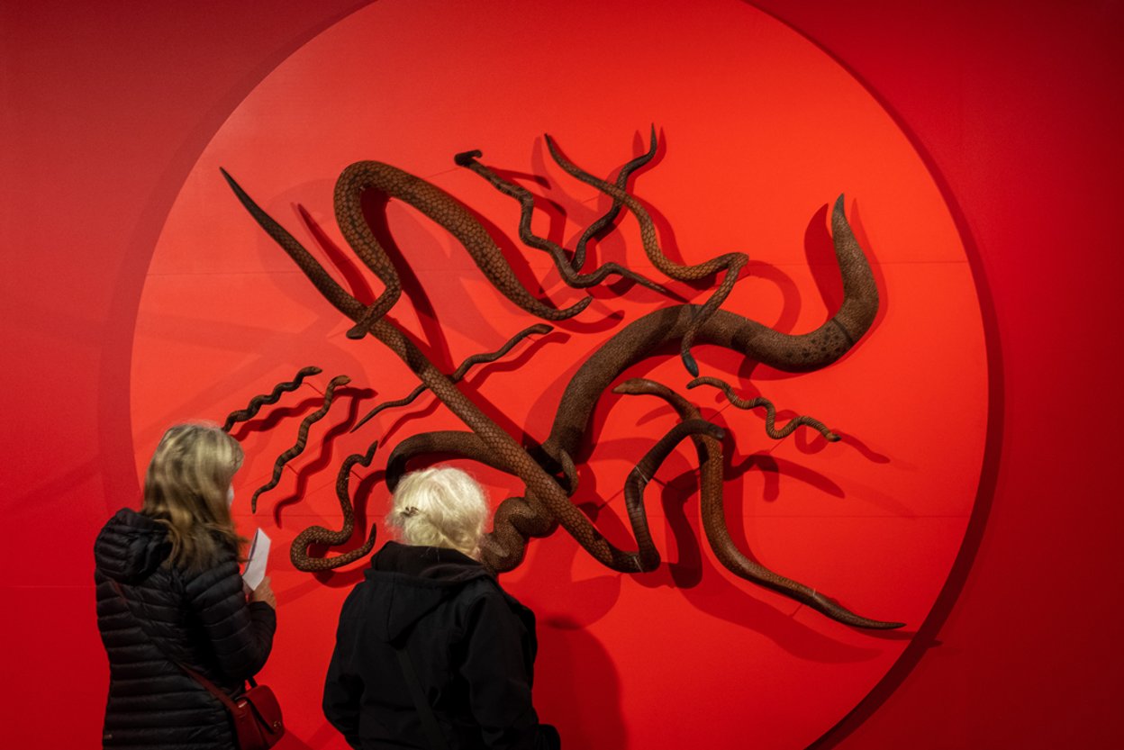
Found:
<svg viewBox="0 0 1124 750"><path fill-rule="evenodd" d="M427 749L405 643L450 750L558 747L531 702L535 616L455 550L388 542L344 602L324 714L354 748Z"/></svg>

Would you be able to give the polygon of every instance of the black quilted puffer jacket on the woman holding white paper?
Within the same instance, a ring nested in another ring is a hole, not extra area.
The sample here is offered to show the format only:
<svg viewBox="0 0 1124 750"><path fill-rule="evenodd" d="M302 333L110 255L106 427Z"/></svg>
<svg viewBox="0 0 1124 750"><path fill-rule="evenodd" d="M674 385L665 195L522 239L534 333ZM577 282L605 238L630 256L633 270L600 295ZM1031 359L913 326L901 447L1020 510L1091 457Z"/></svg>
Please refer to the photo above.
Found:
<svg viewBox="0 0 1124 750"><path fill-rule="evenodd" d="M98 629L109 657L102 743L230 750L224 705L165 654L234 694L265 663L277 617L268 604L246 603L234 551L201 572L162 564L170 551L164 527L128 508L94 543Z"/></svg>

